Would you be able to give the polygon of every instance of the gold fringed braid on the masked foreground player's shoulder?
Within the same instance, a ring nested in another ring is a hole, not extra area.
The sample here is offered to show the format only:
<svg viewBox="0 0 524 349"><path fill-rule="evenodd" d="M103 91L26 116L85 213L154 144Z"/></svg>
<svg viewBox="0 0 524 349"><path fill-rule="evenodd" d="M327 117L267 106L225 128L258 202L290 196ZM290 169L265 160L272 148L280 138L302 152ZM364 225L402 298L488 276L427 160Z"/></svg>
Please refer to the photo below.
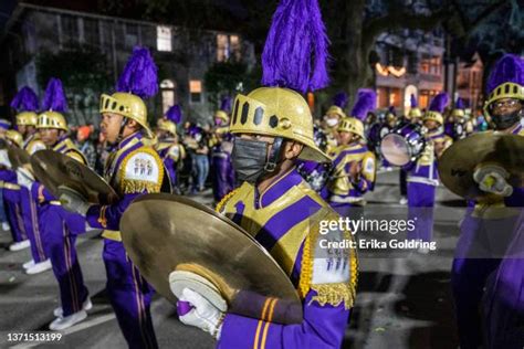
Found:
<svg viewBox="0 0 524 349"><path fill-rule="evenodd" d="M314 254L311 253L311 240L312 234L318 236L318 233L310 233L304 243L304 251L302 254L302 265L301 265L301 277L298 282L298 295L302 299L305 299L310 289L316 292L310 304L314 300L318 302L321 306L329 304L334 307L338 306L344 302L344 308L350 309L355 304L356 299L356 286L358 283L358 258L356 251L352 248L349 251L349 268L350 268L350 279L347 283L335 283L335 284L318 284L312 285L313 277L313 263ZM344 232L344 239L353 240L350 232Z"/></svg>

